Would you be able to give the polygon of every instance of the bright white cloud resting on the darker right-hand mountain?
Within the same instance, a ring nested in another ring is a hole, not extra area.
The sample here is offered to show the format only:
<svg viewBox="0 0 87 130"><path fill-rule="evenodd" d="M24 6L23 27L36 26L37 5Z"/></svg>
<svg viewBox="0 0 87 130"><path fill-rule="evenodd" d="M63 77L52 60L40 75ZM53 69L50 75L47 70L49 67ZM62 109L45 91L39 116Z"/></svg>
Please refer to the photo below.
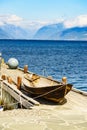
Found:
<svg viewBox="0 0 87 130"><path fill-rule="evenodd" d="M72 20L66 20L64 22L66 28L71 28L75 26L87 26L87 15L80 15Z"/></svg>

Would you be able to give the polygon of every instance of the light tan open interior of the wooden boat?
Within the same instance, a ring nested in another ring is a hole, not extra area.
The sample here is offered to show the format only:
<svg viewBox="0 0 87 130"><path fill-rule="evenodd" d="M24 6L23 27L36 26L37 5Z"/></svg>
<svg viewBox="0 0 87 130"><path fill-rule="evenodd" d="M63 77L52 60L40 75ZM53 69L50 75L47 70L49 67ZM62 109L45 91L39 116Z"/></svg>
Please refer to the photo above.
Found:
<svg viewBox="0 0 87 130"><path fill-rule="evenodd" d="M30 87L50 87L62 85L61 82L57 82L49 77L38 76L36 74L26 74L24 76L24 83Z"/></svg>

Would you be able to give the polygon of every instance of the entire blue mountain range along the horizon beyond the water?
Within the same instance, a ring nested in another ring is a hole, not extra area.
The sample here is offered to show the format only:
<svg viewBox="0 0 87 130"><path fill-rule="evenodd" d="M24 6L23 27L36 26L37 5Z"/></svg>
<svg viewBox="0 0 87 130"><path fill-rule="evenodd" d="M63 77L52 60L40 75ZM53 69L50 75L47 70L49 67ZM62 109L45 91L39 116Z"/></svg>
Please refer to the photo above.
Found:
<svg viewBox="0 0 87 130"><path fill-rule="evenodd" d="M42 26L35 33L12 24L0 26L0 39L87 40L87 26L65 28L64 23Z"/></svg>

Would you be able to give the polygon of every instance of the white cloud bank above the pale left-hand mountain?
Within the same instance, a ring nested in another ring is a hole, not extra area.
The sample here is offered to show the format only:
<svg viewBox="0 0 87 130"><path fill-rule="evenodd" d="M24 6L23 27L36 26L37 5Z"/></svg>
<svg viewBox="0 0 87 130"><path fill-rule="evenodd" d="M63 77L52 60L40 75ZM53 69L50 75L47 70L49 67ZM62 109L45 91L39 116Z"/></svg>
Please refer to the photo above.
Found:
<svg viewBox="0 0 87 130"><path fill-rule="evenodd" d="M28 19L23 19L15 14L13 15L0 15L0 26L4 24L13 24L16 26L20 26L22 28L37 30L40 27L48 24L48 22L41 21L30 21Z"/></svg>

